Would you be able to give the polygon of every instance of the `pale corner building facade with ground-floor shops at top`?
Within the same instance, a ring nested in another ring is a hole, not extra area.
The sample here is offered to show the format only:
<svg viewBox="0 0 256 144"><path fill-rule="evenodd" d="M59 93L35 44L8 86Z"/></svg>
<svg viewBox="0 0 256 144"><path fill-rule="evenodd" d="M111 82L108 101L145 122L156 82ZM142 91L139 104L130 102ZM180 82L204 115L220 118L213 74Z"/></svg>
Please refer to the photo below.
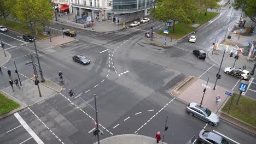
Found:
<svg viewBox="0 0 256 144"><path fill-rule="evenodd" d="M65 1L65 0L54 0ZM67 0L69 11L77 17L91 17L97 21L123 23L149 14L153 0ZM61 5L62 6L62 5ZM59 7L60 9L60 7ZM62 8L65 9L65 8ZM118 21L119 20L119 21Z"/></svg>

